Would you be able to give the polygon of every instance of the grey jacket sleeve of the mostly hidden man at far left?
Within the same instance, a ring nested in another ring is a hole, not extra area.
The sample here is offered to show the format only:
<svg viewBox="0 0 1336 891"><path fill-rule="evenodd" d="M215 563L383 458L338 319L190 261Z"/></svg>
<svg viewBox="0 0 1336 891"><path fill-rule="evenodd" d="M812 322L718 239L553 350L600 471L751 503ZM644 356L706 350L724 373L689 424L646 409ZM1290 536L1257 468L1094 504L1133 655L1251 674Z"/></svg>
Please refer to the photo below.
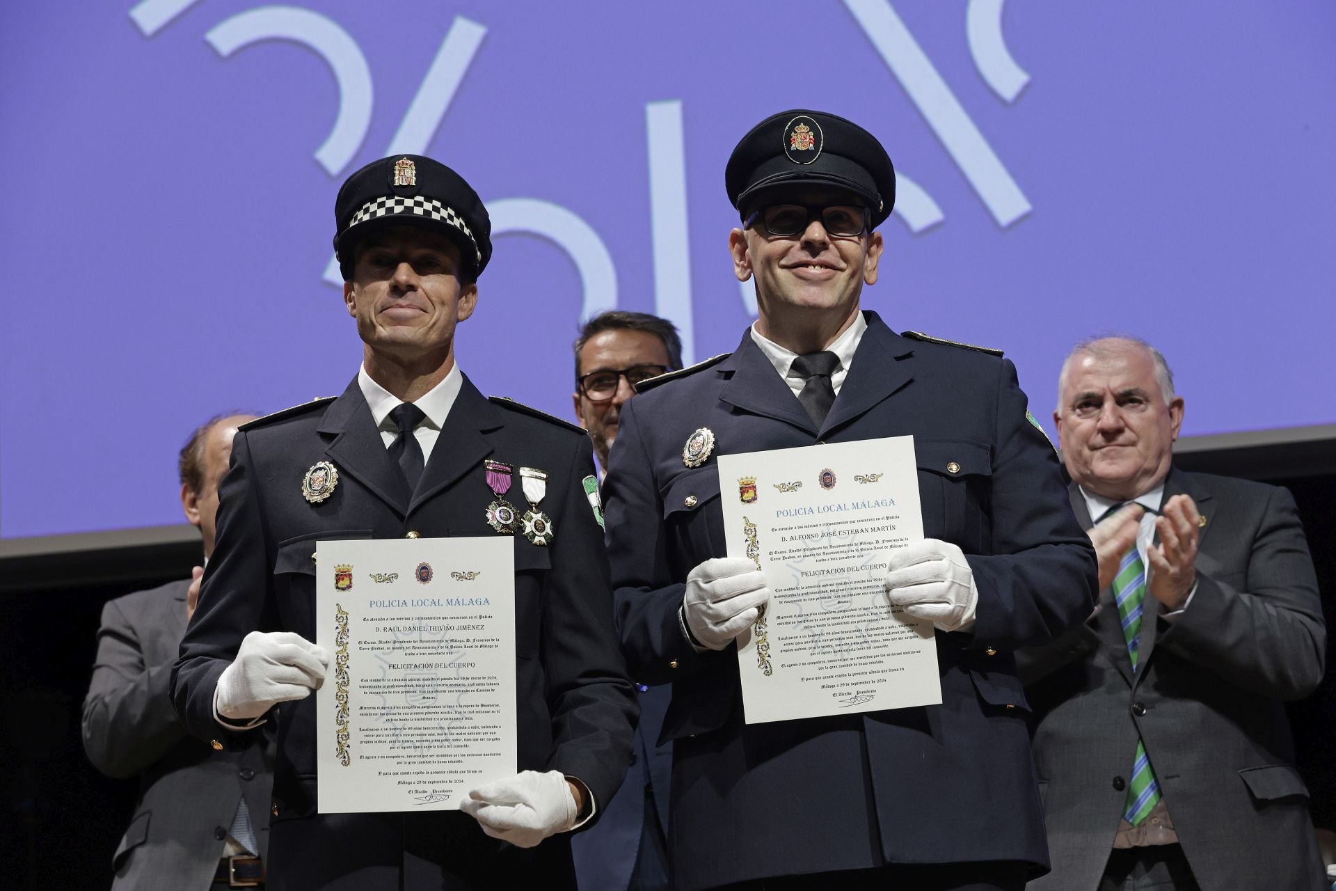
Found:
<svg viewBox="0 0 1336 891"><path fill-rule="evenodd" d="M171 705L172 663L144 663L135 627L116 601L102 610L98 661L84 699L84 751L116 779L134 776L186 736Z"/></svg>

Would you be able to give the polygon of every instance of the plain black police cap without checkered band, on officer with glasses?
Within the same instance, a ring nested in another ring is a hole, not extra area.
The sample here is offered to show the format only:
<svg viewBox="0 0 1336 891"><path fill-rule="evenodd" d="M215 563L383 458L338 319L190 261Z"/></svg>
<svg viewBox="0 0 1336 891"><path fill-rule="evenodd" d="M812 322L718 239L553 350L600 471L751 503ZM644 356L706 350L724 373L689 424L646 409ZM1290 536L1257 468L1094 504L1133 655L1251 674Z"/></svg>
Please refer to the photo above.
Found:
<svg viewBox="0 0 1336 891"><path fill-rule="evenodd" d="M740 214L762 191L787 186L835 186L860 195L878 227L895 206L895 168L851 120L794 108L771 115L743 136L724 168L728 200Z"/></svg>

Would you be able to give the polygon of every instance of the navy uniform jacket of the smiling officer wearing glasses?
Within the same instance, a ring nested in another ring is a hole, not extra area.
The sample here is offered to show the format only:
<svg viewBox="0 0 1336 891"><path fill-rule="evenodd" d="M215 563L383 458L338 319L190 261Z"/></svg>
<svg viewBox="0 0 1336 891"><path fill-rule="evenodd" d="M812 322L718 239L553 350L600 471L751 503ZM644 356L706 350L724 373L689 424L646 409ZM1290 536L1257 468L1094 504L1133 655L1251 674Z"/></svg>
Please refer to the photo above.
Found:
<svg viewBox="0 0 1336 891"><path fill-rule="evenodd" d="M623 409L604 485L623 652L672 681L676 887L886 863L1047 866L1027 707L1013 651L1083 621L1094 550L1058 460L999 355L900 337L875 314L818 430L751 339ZM725 554L720 453L914 435L923 532L966 553L971 633L937 635L942 704L747 725L733 647L697 653L677 618L687 573Z"/></svg>

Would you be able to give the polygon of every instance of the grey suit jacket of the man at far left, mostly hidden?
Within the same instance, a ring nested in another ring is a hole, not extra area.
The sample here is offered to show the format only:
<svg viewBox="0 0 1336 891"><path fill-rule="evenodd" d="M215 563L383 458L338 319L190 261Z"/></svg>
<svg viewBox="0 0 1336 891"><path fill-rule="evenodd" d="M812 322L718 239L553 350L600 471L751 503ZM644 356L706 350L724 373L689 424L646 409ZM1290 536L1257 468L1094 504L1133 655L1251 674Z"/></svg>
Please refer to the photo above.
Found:
<svg viewBox="0 0 1336 891"><path fill-rule="evenodd" d="M116 891L208 888L243 795L261 856L269 844L271 745L257 737L243 752L215 752L187 736L172 709L188 588L188 580L168 582L102 612L84 749L108 776L139 776L135 815L112 859Z"/></svg>

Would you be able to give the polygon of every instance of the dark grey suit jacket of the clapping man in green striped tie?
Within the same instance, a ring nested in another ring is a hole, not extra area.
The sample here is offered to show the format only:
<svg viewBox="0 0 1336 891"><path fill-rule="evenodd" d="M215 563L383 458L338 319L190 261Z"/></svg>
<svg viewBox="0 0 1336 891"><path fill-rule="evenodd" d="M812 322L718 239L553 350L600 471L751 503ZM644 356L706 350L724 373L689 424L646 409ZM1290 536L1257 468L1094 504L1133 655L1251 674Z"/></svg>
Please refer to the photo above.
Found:
<svg viewBox="0 0 1336 891"><path fill-rule="evenodd" d="M1114 777L1129 776L1138 731L1204 891L1323 887L1283 707L1316 689L1327 639L1295 500L1172 470L1165 501L1178 493L1206 517L1197 590L1172 622L1148 593L1136 675L1109 589L1089 622L1021 653L1053 858L1030 887L1098 884L1126 795ZM1089 528L1075 484L1070 494Z"/></svg>

